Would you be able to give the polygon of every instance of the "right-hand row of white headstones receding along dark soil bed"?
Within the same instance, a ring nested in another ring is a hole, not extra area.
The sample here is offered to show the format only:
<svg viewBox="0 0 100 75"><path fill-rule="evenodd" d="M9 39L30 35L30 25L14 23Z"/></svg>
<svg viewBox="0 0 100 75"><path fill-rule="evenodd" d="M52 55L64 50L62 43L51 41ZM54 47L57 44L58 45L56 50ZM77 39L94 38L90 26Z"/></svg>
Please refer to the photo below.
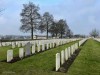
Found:
<svg viewBox="0 0 100 75"><path fill-rule="evenodd" d="M74 52L78 49L79 44L83 44L85 41L86 39L83 39L79 41L79 43L75 43L65 50L62 50L61 53L56 54L56 71L58 71L60 66L74 54Z"/></svg>

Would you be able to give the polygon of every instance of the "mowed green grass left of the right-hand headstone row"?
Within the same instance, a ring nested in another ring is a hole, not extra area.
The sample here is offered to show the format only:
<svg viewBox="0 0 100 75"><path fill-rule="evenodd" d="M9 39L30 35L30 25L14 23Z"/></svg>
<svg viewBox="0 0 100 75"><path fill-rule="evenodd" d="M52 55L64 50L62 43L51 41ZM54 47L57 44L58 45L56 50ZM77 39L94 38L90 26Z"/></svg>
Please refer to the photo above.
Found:
<svg viewBox="0 0 100 75"><path fill-rule="evenodd" d="M52 71L55 67L55 55L76 42L78 41L38 53L15 63L0 62L0 75L64 75L64 73ZM11 49L11 47L0 48L0 60L6 58L6 51L8 49ZM15 56L18 55L18 50L18 48L14 49Z"/></svg>

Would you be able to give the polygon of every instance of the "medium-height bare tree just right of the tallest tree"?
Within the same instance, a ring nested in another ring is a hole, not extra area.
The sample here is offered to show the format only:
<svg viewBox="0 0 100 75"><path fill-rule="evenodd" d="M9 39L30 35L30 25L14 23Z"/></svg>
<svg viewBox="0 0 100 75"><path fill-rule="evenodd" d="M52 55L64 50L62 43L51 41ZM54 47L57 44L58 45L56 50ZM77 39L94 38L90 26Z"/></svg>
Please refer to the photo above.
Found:
<svg viewBox="0 0 100 75"><path fill-rule="evenodd" d="M47 32L47 39L48 39L49 29L50 29L52 24L53 24L53 15L49 14L49 12L45 12L42 16L39 30L41 32L44 32L44 31Z"/></svg>

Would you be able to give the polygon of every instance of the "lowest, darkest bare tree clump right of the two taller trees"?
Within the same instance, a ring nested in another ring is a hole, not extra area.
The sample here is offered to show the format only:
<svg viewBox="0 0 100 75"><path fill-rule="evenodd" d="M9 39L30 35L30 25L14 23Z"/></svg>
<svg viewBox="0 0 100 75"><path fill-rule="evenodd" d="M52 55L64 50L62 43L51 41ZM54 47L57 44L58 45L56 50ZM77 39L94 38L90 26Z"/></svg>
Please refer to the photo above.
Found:
<svg viewBox="0 0 100 75"><path fill-rule="evenodd" d="M69 26L67 25L66 21L60 19L59 21L54 21L51 25L49 32L52 36L59 36L62 38L63 35L67 35L68 33L71 34L71 30L69 31Z"/></svg>

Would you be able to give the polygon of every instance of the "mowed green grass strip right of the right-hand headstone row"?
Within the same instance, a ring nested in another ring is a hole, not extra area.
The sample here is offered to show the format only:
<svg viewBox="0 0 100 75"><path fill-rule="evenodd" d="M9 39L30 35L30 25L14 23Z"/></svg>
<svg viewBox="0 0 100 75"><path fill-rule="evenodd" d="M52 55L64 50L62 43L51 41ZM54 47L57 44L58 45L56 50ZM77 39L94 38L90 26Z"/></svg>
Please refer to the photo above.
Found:
<svg viewBox="0 0 100 75"><path fill-rule="evenodd" d="M100 43L88 40L67 75L100 75Z"/></svg>

